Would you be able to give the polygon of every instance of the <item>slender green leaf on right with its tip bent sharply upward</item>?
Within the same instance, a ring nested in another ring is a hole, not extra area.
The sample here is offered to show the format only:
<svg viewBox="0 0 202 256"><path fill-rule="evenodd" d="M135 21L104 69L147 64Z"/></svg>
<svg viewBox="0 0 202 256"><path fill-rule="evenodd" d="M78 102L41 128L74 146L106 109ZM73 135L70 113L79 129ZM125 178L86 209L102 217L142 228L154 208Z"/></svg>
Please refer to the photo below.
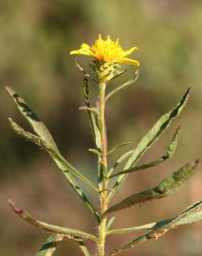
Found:
<svg viewBox="0 0 202 256"><path fill-rule="evenodd" d="M134 166L134 167L131 167L127 170L117 172L116 174L113 174L113 175L109 176L109 178L113 178L115 176L119 176L119 175L122 175L122 174L129 174L131 172L136 172L136 171L139 171L139 170L145 170L147 168L154 167L156 165L160 165L161 163L163 163L163 162L167 161L168 159L172 158L172 156L174 155L174 152L176 151L178 136L179 136L179 134L181 134L181 127L182 126L179 125L178 128L176 129L176 132L175 132L175 134L172 138L172 142L170 143L169 147L167 148L167 152L166 152L165 156L161 156L156 161L152 161L150 163L144 163L143 165Z"/></svg>

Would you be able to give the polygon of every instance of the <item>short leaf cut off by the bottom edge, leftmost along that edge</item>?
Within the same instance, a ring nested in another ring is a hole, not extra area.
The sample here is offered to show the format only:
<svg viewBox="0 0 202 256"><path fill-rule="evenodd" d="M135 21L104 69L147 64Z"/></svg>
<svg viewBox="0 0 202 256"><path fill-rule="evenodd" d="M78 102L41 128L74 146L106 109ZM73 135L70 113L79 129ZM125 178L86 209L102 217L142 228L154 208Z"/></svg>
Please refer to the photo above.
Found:
<svg viewBox="0 0 202 256"><path fill-rule="evenodd" d="M39 249L36 256L51 256L55 252L57 244L59 241L64 239L65 235L60 234L53 234L46 239L45 243L43 244L42 248Z"/></svg>

